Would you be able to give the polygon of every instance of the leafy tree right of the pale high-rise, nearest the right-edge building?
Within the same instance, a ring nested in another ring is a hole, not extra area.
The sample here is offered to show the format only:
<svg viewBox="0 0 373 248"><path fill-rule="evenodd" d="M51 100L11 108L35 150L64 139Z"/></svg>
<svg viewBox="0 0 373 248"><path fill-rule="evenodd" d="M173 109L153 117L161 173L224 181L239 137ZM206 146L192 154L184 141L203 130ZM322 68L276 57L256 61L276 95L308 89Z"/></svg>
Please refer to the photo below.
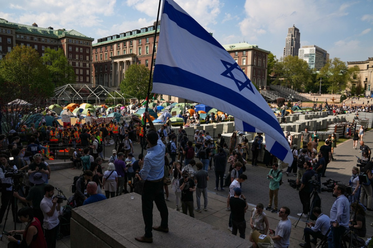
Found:
<svg viewBox="0 0 373 248"><path fill-rule="evenodd" d="M346 62L340 58L333 58L333 60L328 60L325 66L320 69L319 80L320 77L323 77L323 84L328 86L327 91L333 94L346 88L354 70L353 68L348 69Z"/></svg>

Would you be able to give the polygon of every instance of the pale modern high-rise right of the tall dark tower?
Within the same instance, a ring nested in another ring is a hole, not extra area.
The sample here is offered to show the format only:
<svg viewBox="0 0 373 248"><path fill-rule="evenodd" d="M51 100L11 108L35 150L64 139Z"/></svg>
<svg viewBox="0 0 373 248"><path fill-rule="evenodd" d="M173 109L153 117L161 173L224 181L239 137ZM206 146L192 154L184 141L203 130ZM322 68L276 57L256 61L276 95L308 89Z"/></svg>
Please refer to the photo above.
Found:
<svg viewBox="0 0 373 248"><path fill-rule="evenodd" d="M299 49L299 58L307 61L310 69L320 70L329 60L329 53L315 45L302 46Z"/></svg>

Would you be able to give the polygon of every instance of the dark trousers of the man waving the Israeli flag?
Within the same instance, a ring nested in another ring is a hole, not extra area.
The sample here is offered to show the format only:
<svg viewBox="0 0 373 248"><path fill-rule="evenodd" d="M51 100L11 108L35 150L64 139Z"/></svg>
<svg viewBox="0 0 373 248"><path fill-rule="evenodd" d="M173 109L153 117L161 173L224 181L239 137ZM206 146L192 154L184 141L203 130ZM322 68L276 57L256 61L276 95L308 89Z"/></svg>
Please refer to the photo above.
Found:
<svg viewBox="0 0 373 248"><path fill-rule="evenodd" d="M145 181L142 189L142 217L145 223L145 237L153 237L153 201L156 203L157 209L161 216L161 225L163 228L168 228L168 209L163 194L163 180L160 182Z"/></svg>

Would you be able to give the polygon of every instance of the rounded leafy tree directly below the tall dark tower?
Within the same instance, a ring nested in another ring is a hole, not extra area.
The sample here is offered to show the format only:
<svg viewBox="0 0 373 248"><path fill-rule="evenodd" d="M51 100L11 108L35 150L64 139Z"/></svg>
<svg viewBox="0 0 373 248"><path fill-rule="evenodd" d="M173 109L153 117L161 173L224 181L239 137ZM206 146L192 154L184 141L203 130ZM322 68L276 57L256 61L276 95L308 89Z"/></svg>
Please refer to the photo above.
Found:
<svg viewBox="0 0 373 248"><path fill-rule="evenodd" d="M276 63L275 72L278 74L276 82L292 89L303 89L312 83L311 70L306 61L298 56L287 56Z"/></svg>

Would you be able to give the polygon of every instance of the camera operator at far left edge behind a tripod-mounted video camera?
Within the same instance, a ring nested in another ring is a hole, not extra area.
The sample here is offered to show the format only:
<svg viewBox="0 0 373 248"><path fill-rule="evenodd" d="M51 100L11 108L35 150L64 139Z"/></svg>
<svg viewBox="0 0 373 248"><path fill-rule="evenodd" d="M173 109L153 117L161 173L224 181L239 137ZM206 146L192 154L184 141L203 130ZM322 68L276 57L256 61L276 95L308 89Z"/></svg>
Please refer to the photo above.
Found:
<svg viewBox="0 0 373 248"><path fill-rule="evenodd" d="M13 179L12 177L5 177L6 171L9 171L11 169L17 169L17 167L10 162L12 160L9 160L8 156L5 154L0 154L0 179L1 179L1 207L0 207L0 223L3 221L3 217L5 214L5 211L8 207L9 201L12 200L13 196ZM17 214L17 206L15 204L15 201L12 202L12 216L13 221L17 223L21 223L16 216Z"/></svg>

